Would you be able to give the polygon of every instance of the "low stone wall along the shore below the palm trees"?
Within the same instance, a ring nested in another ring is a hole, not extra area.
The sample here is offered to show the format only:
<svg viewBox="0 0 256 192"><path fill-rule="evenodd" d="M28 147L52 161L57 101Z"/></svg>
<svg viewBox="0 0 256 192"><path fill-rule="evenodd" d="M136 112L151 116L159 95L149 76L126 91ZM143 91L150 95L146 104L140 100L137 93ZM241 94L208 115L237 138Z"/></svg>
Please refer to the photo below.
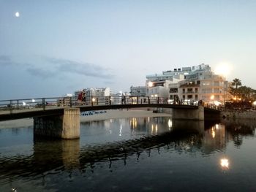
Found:
<svg viewBox="0 0 256 192"><path fill-rule="evenodd" d="M222 111L220 115L222 118L241 118L256 120L256 111Z"/></svg>

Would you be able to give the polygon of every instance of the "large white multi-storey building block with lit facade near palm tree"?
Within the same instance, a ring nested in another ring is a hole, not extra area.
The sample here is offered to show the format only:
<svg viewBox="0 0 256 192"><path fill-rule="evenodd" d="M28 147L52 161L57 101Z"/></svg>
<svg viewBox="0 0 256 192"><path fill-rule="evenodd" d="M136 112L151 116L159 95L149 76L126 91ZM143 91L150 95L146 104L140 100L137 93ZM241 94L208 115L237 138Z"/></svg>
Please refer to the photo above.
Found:
<svg viewBox="0 0 256 192"><path fill-rule="evenodd" d="M147 75L146 96L223 104L229 93L225 77L211 72L210 66L200 64Z"/></svg>

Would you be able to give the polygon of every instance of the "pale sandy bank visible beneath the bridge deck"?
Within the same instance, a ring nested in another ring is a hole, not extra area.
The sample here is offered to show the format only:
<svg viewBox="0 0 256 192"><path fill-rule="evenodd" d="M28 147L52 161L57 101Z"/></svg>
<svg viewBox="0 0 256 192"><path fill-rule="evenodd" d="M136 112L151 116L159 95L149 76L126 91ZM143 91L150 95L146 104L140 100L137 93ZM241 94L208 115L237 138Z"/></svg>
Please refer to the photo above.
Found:
<svg viewBox="0 0 256 192"><path fill-rule="evenodd" d="M80 116L80 122L107 120L113 118L141 118L141 117L171 117L167 113L153 113L147 110L107 110L105 113L99 113L89 116ZM0 128L19 128L33 126L33 119L7 120L0 122Z"/></svg>

